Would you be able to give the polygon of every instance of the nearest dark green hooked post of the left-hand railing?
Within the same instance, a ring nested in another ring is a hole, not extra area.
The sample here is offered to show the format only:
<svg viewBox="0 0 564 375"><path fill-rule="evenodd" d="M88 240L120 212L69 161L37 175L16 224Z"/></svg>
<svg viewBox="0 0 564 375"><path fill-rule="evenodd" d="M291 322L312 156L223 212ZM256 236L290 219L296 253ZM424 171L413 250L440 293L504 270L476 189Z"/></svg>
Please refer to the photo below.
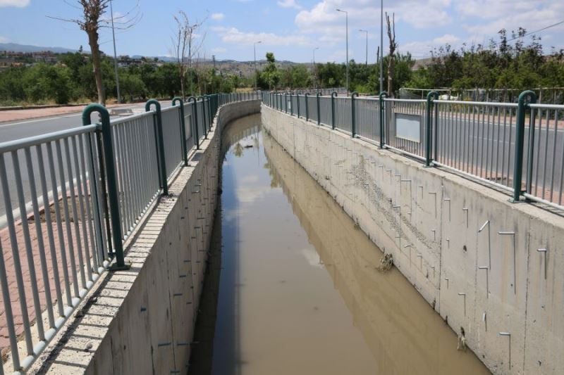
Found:
<svg viewBox="0 0 564 375"><path fill-rule="evenodd" d="M121 220L119 215L118 184L116 177L116 166L114 163L114 145L111 140L110 115L108 110L100 104L90 104L82 111L82 125L90 125L90 115L97 112L102 119L102 145L104 148L104 165L106 170L106 182L108 184L109 214L111 220L111 236L114 239L114 255L116 263L111 265L110 270L129 269L130 264L125 263L123 255L123 236L121 234ZM104 183L104 182L102 182Z"/></svg>

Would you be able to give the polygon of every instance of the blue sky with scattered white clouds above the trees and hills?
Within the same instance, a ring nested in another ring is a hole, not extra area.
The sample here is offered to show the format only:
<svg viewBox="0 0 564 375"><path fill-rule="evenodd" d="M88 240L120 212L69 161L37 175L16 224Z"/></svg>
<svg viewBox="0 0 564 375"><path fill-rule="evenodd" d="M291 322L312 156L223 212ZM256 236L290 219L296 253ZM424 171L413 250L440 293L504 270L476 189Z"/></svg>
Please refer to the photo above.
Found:
<svg viewBox="0 0 564 375"><path fill-rule="evenodd" d="M87 49L85 32L73 23L48 18L78 18L76 0L0 0L0 42ZM202 56L250 61L253 42L257 56L274 52L278 60L297 62L345 61L345 15L349 15L350 58L365 59L369 30L369 62L379 44L379 0L114 0L114 12L125 14L138 4L142 20L118 32L118 54L171 55L173 14L179 10L203 20ZM484 43L502 27L539 30L564 21L563 0L384 0L384 10L396 14L396 39L401 52L417 58L445 43ZM539 32L545 51L564 48L564 24ZM102 30L103 51L112 53L111 33ZM384 51L386 51L386 36Z"/></svg>

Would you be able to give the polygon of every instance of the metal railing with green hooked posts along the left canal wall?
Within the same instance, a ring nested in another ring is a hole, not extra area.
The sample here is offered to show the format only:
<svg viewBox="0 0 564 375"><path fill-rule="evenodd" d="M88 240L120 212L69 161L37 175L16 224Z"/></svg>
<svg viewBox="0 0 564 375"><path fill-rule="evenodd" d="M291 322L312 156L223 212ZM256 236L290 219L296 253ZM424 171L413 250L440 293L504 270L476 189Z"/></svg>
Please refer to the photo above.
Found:
<svg viewBox="0 0 564 375"><path fill-rule="evenodd" d="M116 120L91 104L82 127L0 143L9 237L0 242L0 328L8 332L4 362L13 371L30 367L103 272L130 267L124 241L168 195L173 175L212 131L219 107L260 98L255 92L177 97L168 108L151 99L145 113ZM92 115L99 123L92 124Z"/></svg>

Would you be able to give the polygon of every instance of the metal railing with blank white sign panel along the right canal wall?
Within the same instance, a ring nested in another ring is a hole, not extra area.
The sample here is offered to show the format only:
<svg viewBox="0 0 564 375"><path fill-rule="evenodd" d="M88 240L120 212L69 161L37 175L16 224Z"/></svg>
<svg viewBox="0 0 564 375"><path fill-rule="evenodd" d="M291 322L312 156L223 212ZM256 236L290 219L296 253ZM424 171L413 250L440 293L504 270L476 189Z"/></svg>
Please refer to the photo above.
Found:
<svg viewBox="0 0 564 375"><path fill-rule="evenodd" d="M266 106L302 116L291 108L300 95L263 95ZM513 202L564 209L564 106L537 104L533 91L518 103L441 100L436 91L415 100L317 93L316 106L305 120L492 184Z"/></svg>

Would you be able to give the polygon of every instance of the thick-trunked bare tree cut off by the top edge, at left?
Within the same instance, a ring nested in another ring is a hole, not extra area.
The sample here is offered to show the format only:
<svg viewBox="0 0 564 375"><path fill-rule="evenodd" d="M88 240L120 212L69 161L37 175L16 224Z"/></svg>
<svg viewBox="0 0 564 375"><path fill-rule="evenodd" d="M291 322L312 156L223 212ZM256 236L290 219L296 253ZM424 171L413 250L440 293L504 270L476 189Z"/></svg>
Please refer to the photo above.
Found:
<svg viewBox="0 0 564 375"><path fill-rule="evenodd" d="M75 23L84 30L88 35L88 44L90 45L90 53L92 56L92 66L94 68L94 80L96 81L96 89L98 92L98 103L106 105L106 92L104 91L104 81L102 80L102 61L100 58L99 46L99 30L101 27L110 27L111 19L105 19L104 13L111 0L76 0L77 4L66 3L73 8L82 11L80 18L59 18L50 17L56 20ZM138 4L131 11L124 15L114 17L114 27L125 30L137 24L141 20L141 13L138 11Z"/></svg>

